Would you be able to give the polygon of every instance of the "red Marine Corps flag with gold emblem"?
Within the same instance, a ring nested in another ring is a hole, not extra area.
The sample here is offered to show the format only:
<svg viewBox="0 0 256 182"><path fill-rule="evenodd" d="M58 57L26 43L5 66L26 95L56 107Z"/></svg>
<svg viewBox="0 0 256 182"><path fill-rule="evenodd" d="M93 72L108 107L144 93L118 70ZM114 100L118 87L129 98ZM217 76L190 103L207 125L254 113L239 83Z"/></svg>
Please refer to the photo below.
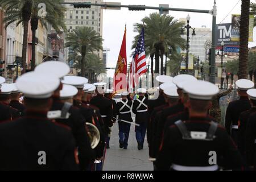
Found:
<svg viewBox="0 0 256 182"><path fill-rule="evenodd" d="M117 66L115 67L115 74L113 80L114 92L118 90L126 89L126 73L127 73L127 57L126 57L126 25L125 34L123 35L123 41L119 52Z"/></svg>

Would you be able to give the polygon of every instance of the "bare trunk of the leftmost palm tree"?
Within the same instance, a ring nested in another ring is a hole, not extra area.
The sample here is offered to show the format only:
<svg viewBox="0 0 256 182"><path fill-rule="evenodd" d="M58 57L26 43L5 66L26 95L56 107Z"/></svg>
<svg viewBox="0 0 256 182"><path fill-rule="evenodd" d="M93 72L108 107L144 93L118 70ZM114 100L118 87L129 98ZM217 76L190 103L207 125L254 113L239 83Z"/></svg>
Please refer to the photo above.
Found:
<svg viewBox="0 0 256 182"><path fill-rule="evenodd" d="M26 61L27 61L27 34L28 34L28 22L31 18L31 1L27 1L22 7L22 19L23 19L23 44L22 44L22 74L26 73Z"/></svg>

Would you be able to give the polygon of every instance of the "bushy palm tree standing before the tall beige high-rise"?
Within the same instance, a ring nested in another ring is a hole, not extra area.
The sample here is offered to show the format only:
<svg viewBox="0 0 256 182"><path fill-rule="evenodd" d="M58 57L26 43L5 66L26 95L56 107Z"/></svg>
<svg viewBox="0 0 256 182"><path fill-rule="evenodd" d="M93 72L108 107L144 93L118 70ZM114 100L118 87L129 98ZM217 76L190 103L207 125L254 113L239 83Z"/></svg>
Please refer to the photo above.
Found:
<svg viewBox="0 0 256 182"><path fill-rule="evenodd" d="M92 27L79 27L68 34L65 47L81 54L81 76L85 77L86 53L102 50L102 40Z"/></svg>

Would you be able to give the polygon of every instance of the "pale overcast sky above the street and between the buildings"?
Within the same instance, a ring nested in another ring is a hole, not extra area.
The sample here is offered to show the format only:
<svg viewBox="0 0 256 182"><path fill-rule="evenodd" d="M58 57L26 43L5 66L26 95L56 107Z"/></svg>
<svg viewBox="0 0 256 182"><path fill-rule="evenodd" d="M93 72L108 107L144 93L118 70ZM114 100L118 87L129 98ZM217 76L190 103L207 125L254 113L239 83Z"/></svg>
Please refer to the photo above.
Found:
<svg viewBox="0 0 256 182"><path fill-rule="evenodd" d="M159 4L169 4L169 7L185 8L185 9L201 9L211 10L213 0L109 0L109 2L121 2L122 5L146 5L146 6L159 6ZM254 2L252 0L251 2ZM236 7L234 7L236 5ZM241 1L238 0L216 0L217 6L217 24L218 23L231 23L232 14L241 14ZM234 7L234 9L233 9ZM232 10L233 9L233 10ZM232 11L231 11L232 10ZM230 12L231 11L231 12ZM103 38L104 47L108 47L108 67L115 67L117 63L118 54L121 47L123 38L123 31L125 23L127 24L126 35L126 49L127 61L131 61L131 43L134 36L133 24L141 22L144 16L150 13L158 12L157 10L146 11L129 11L127 8L121 10L104 10L103 13ZM187 13L178 11L169 11L171 16L175 19L185 18L188 14L191 16L190 24L192 27L201 27L203 25L212 28L212 16L210 14L200 13ZM228 16L227 16L228 15ZM226 17L226 18L225 18ZM225 18L225 19L224 19ZM224 20L223 20L224 19ZM254 40L256 39L256 32L254 28ZM249 43L249 47L254 46L256 43ZM108 72L112 76L114 71Z"/></svg>

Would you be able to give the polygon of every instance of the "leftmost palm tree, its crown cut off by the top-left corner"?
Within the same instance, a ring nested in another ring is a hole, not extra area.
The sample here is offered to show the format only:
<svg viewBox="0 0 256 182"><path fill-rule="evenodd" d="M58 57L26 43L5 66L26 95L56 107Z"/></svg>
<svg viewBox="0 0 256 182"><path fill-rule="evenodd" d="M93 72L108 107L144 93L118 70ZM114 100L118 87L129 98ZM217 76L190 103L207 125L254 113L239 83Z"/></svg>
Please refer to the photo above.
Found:
<svg viewBox="0 0 256 182"><path fill-rule="evenodd" d="M0 0L1 7L5 10L5 27L16 22L16 26L23 24L23 46L22 46L22 73L26 72L27 60L27 34L28 22L31 18L32 1L31 0Z"/></svg>

